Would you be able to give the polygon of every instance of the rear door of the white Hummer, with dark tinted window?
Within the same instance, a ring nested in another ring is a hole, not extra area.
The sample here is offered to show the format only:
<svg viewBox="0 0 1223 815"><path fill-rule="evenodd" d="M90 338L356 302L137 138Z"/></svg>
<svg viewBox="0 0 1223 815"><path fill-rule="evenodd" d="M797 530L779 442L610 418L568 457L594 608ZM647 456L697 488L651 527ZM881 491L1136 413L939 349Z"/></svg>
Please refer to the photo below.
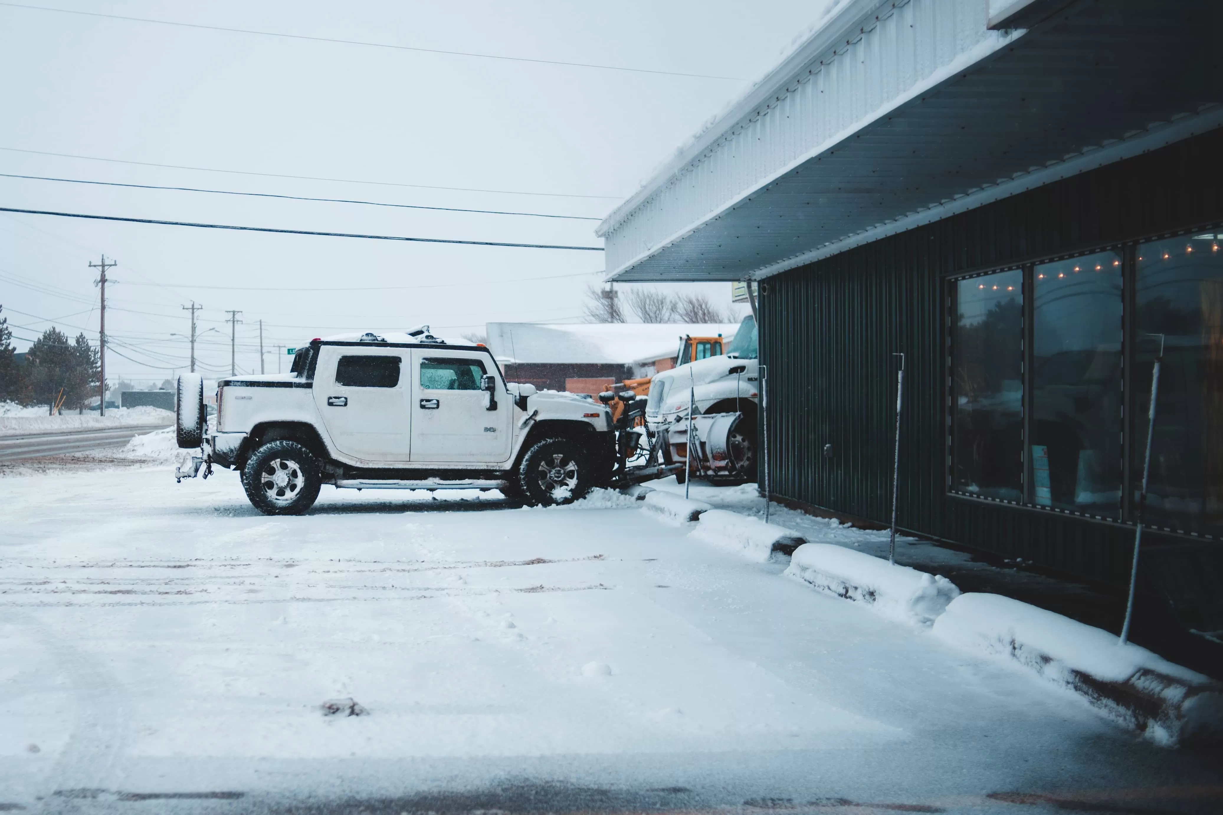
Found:
<svg viewBox="0 0 1223 815"><path fill-rule="evenodd" d="M371 462L407 462L408 371L407 349L322 347L314 403L341 453Z"/></svg>

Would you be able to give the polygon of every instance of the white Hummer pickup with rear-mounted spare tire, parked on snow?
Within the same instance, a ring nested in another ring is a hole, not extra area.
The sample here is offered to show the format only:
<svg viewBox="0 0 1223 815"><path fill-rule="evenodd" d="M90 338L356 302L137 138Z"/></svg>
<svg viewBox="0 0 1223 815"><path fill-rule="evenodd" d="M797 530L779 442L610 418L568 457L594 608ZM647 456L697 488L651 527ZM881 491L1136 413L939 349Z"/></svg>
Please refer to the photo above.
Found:
<svg viewBox="0 0 1223 815"><path fill-rule="evenodd" d="M179 446L201 448L177 477L236 469L265 514L306 512L323 484L547 505L624 480L605 404L508 384L488 348L428 326L313 340L289 374L223 379L208 422L203 380L180 376L177 418Z"/></svg>

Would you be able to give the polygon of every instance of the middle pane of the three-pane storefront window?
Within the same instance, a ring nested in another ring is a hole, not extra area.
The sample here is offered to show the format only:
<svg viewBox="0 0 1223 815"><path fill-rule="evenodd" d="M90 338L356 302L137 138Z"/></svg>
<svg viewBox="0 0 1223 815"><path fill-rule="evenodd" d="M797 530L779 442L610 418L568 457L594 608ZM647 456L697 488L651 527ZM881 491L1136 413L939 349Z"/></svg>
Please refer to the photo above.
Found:
<svg viewBox="0 0 1223 815"><path fill-rule="evenodd" d="M1035 268L1030 500L1120 516L1121 254Z"/></svg>

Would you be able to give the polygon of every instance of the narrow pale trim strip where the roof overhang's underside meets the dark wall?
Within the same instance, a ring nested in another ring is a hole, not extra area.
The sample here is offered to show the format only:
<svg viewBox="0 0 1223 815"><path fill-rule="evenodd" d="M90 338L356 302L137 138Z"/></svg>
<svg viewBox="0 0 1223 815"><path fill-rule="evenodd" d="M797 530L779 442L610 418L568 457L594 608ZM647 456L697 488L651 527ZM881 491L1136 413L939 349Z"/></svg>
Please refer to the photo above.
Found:
<svg viewBox="0 0 1223 815"><path fill-rule="evenodd" d="M1099 147L1086 153L1080 153L1079 155L1064 161L1036 170L1035 172L1019 175L1004 183L991 185L989 187L963 196L954 200L934 204L922 211L911 213L893 221L878 224L856 235L846 236L834 243L828 243L794 255L793 258L786 258L785 260L779 260L767 266L762 266L750 275L746 275L746 277L750 277L751 280L772 277L773 275L779 275L783 271L789 271L791 269L797 269L799 266L805 266L810 263L816 263L817 260L823 260L824 258L830 258L834 254L840 254L841 252L846 252L854 247L863 246L890 235L899 235L900 232L906 232L918 226L933 224L934 221L940 221L944 217L958 215L978 206L985 206L986 204L992 204L996 200L1010 198L1011 196L1036 189L1037 187L1043 187L1044 185L1069 178L1070 176L1097 170L1125 159L1132 159L1144 153L1168 147L1169 144L1181 139L1200 136L1219 127L1223 127L1223 105L1210 105L1197 115L1178 119L1170 125L1161 125L1155 130L1147 131L1146 133L1117 141L1107 147Z"/></svg>

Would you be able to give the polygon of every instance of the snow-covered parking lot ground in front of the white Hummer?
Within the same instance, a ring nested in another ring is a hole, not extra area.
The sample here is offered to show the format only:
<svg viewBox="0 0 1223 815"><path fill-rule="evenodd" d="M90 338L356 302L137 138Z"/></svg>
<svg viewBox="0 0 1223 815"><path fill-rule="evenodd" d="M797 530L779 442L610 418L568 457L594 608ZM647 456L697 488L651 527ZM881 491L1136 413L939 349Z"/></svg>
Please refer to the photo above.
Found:
<svg viewBox="0 0 1223 815"><path fill-rule="evenodd" d="M264 517L236 474L165 466L0 492L0 809L1219 803L1217 755L1152 747L619 494L325 488ZM364 715L324 715L347 699Z"/></svg>

